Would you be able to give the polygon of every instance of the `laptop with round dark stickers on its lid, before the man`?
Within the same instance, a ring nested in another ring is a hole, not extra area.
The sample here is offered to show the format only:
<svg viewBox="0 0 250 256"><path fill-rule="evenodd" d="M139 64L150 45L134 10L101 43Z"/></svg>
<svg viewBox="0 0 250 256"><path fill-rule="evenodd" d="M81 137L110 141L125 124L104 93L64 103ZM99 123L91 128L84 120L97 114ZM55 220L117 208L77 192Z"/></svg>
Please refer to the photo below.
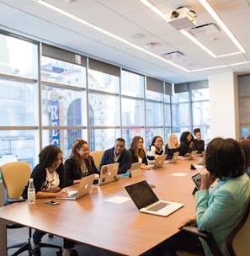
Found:
<svg viewBox="0 0 250 256"><path fill-rule="evenodd" d="M101 168L100 179L98 185L110 183L118 180L119 163L110 163L103 165Z"/></svg>

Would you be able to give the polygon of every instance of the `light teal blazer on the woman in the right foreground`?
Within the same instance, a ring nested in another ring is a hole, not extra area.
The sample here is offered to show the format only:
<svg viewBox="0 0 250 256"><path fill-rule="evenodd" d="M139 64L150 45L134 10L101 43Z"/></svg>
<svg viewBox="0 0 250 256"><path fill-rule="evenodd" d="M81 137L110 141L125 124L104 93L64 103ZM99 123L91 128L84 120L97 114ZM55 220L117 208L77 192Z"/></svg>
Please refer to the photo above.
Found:
<svg viewBox="0 0 250 256"><path fill-rule="evenodd" d="M223 255L227 255L226 237L242 215L249 195L250 179L247 173L221 180L210 192L202 189L195 193L197 227L212 232ZM201 243L205 255L212 256L205 241L201 239Z"/></svg>

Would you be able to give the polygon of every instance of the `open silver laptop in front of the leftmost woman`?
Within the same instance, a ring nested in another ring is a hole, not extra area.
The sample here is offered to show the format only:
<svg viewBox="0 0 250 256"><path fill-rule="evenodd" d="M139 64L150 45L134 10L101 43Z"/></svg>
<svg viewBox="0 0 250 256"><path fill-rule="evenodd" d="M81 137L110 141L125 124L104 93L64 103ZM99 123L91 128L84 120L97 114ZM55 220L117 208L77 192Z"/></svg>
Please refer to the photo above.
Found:
<svg viewBox="0 0 250 256"><path fill-rule="evenodd" d="M95 174L88 175L86 177L83 177L81 179L81 182L78 186L77 190L72 190L68 192L67 197L56 197L56 199L63 199L63 200L77 200L81 198L83 195L87 195L92 188L93 185L93 179L95 177Z"/></svg>

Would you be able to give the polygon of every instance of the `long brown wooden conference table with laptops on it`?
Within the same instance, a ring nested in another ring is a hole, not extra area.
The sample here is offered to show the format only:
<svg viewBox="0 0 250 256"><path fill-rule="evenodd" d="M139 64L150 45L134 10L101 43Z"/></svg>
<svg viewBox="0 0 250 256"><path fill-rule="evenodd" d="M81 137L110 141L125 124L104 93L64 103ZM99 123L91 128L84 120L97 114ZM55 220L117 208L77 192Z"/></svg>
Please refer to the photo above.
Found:
<svg viewBox="0 0 250 256"><path fill-rule="evenodd" d="M177 233L178 223L186 216L194 215L191 176L199 171L190 169L190 165L199 162L201 157L164 163L162 168L142 170L134 178L121 177L102 186L93 185L88 195L78 200L57 200L59 205L46 205L47 199L40 199L35 205L25 201L4 206L0 208L0 255L7 252L7 223L39 229L117 255L143 255ZM159 199L184 203L184 207L167 217L140 213L125 186L141 180L155 186L153 191Z"/></svg>

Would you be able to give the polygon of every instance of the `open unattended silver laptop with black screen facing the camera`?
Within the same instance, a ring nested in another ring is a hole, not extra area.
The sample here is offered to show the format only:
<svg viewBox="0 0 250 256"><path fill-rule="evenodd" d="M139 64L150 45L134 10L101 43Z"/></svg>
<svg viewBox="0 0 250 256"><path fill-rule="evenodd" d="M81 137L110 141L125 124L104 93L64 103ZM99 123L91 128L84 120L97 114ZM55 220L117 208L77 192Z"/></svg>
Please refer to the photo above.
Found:
<svg viewBox="0 0 250 256"><path fill-rule="evenodd" d="M143 213L168 216L184 206L180 203L159 200L146 180L126 186L125 189L138 210Z"/></svg>

